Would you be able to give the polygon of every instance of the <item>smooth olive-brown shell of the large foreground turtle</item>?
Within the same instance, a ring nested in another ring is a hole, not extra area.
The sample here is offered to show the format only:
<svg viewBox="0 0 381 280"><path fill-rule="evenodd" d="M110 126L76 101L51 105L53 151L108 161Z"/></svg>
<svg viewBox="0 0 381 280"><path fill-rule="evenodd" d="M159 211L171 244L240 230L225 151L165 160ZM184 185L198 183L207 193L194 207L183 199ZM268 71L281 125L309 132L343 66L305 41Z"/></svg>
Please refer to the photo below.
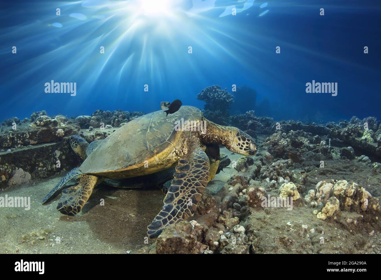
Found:
<svg viewBox="0 0 381 280"><path fill-rule="evenodd" d="M177 160L170 154L182 133L175 130L175 122L201 118L201 111L192 106L182 106L167 117L159 110L136 118L104 139L82 163L80 170L110 178L126 178L168 168L174 159ZM144 168L144 163L149 167Z"/></svg>

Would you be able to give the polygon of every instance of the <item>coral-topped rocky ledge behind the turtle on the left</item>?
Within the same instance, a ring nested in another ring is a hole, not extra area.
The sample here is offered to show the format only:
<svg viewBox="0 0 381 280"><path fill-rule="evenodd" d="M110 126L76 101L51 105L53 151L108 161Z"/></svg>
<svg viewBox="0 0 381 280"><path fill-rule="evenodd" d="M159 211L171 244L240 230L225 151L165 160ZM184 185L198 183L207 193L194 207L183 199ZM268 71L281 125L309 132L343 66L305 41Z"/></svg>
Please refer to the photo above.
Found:
<svg viewBox="0 0 381 280"><path fill-rule="evenodd" d="M104 139L144 112L96 110L91 116L49 116L45 110L30 118L4 120L0 128L0 188L67 172L79 164L69 137L80 134L88 142ZM25 159L28 160L25 160Z"/></svg>

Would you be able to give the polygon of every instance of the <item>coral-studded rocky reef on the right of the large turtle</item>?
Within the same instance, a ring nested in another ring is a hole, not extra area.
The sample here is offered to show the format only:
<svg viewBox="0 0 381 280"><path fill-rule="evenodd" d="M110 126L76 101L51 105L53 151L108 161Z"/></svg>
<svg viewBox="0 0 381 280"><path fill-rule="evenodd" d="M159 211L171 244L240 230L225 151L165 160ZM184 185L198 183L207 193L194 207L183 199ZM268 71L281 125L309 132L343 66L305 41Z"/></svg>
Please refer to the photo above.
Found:
<svg viewBox="0 0 381 280"><path fill-rule="evenodd" d="M381 229L375 118L323 126L250 111L224 122L253 128L258 154L232 161L237 174L214 196L203 194L202 213L168 226L140 253L381 252L372 245Z"/></svg>

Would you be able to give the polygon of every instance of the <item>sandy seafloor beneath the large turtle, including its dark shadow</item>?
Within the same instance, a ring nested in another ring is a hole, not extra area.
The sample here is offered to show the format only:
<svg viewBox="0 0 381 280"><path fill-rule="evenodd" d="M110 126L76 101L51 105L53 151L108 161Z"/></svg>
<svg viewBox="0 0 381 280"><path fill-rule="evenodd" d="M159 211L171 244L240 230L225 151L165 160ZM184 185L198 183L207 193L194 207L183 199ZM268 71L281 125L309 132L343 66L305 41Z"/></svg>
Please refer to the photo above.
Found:
<svg viewBox="0 0 381 280"><path fill-rule="evenodd" d="M221 149L221 152L223 150ZM229 152L225 149L226 154ZM240 155L232 155L237 160ZM207 192L218 192L237 171L224 169L208 184ZM122 189L97 186L80 214L71 217L57 209L60 195L46 205L40 202L62 175L13 187L2 195L30 196L31 207L2 208L0 253L136 253L144 244L147 226L162 209L160 189ZM104 198L105 205L100 205ZM56 243L56 237L61 243ZM150 240L149 243L153 241Z"/></svg>

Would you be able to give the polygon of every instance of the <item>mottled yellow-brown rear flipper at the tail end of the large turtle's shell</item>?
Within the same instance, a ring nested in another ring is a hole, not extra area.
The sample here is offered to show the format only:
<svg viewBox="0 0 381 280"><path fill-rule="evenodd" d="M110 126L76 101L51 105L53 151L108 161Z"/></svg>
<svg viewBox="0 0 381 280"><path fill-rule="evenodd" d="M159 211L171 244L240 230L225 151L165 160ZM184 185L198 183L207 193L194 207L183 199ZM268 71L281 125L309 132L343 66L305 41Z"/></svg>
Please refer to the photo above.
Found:
<svg viewBox="0 0 381 280"><path fill-rule="evenodd" d="M82 174L77 186L62 190L57 210L69 216L79 213L93 192L97 181L97 176Z"/></svg>

